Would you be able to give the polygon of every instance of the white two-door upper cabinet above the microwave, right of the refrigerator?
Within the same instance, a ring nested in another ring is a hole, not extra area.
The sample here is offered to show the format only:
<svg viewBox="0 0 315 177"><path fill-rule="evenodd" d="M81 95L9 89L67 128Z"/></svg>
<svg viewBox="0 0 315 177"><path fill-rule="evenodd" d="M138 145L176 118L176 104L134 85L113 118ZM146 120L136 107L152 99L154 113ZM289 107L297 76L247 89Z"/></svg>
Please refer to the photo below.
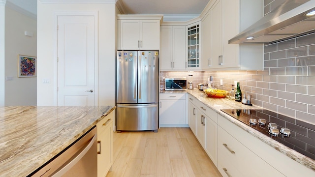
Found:
<svg viewBox="0 0 315 177"><path fill-rule="evenodd" d="M186 27L161 26L160 70L185 70Z"/></svg>

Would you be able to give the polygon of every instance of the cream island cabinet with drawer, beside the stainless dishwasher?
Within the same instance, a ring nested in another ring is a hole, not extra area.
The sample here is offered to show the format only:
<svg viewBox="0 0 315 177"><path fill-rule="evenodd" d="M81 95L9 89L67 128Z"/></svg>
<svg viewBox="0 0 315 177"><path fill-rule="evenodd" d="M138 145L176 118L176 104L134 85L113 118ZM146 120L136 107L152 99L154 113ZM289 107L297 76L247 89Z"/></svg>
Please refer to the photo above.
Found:
<svg viewBox="0 0 315 177"><path fill-rule="evenodd" d="M113 120L114 112L107 115L97 126L97 177L106 177L113 165Z"/></svg>

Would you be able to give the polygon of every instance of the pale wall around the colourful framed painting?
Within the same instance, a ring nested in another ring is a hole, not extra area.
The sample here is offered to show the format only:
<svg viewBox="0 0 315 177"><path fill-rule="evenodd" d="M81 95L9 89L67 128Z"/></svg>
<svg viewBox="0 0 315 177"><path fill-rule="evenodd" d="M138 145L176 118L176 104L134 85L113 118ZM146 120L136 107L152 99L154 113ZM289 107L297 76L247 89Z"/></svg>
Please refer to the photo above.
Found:
<svg viewBox="0 0 315 177"><path fill-rule="evenodd" d="M5 7L5 106L36 105L36 77L18 78L18 55L36 57L36 19ZM24 35L33 33L33 37Z"/></svg>

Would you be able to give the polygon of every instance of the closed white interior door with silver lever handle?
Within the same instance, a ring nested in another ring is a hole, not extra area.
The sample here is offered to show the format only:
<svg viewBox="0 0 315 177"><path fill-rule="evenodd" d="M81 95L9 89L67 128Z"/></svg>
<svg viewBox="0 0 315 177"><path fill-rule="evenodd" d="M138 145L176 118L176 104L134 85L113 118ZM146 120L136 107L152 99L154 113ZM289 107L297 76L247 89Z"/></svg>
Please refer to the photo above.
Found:
<svg viewBox="0 0 315 177"><path fill-rule="evenodd" d="M58 17L58 106L95 105L94 18Z"/></svg>

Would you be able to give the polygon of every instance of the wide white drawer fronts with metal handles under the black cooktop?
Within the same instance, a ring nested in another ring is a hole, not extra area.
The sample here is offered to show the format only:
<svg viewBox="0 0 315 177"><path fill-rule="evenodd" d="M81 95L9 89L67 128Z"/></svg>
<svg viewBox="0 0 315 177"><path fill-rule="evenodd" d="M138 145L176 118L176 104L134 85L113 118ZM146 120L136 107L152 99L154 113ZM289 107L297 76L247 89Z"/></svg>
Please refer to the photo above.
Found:
<svg viewBox="0 0 315 177"><path fill-rule="evenodd" d="M284 177L220 126L218 128L218 170L223 177Z"/></svg>

